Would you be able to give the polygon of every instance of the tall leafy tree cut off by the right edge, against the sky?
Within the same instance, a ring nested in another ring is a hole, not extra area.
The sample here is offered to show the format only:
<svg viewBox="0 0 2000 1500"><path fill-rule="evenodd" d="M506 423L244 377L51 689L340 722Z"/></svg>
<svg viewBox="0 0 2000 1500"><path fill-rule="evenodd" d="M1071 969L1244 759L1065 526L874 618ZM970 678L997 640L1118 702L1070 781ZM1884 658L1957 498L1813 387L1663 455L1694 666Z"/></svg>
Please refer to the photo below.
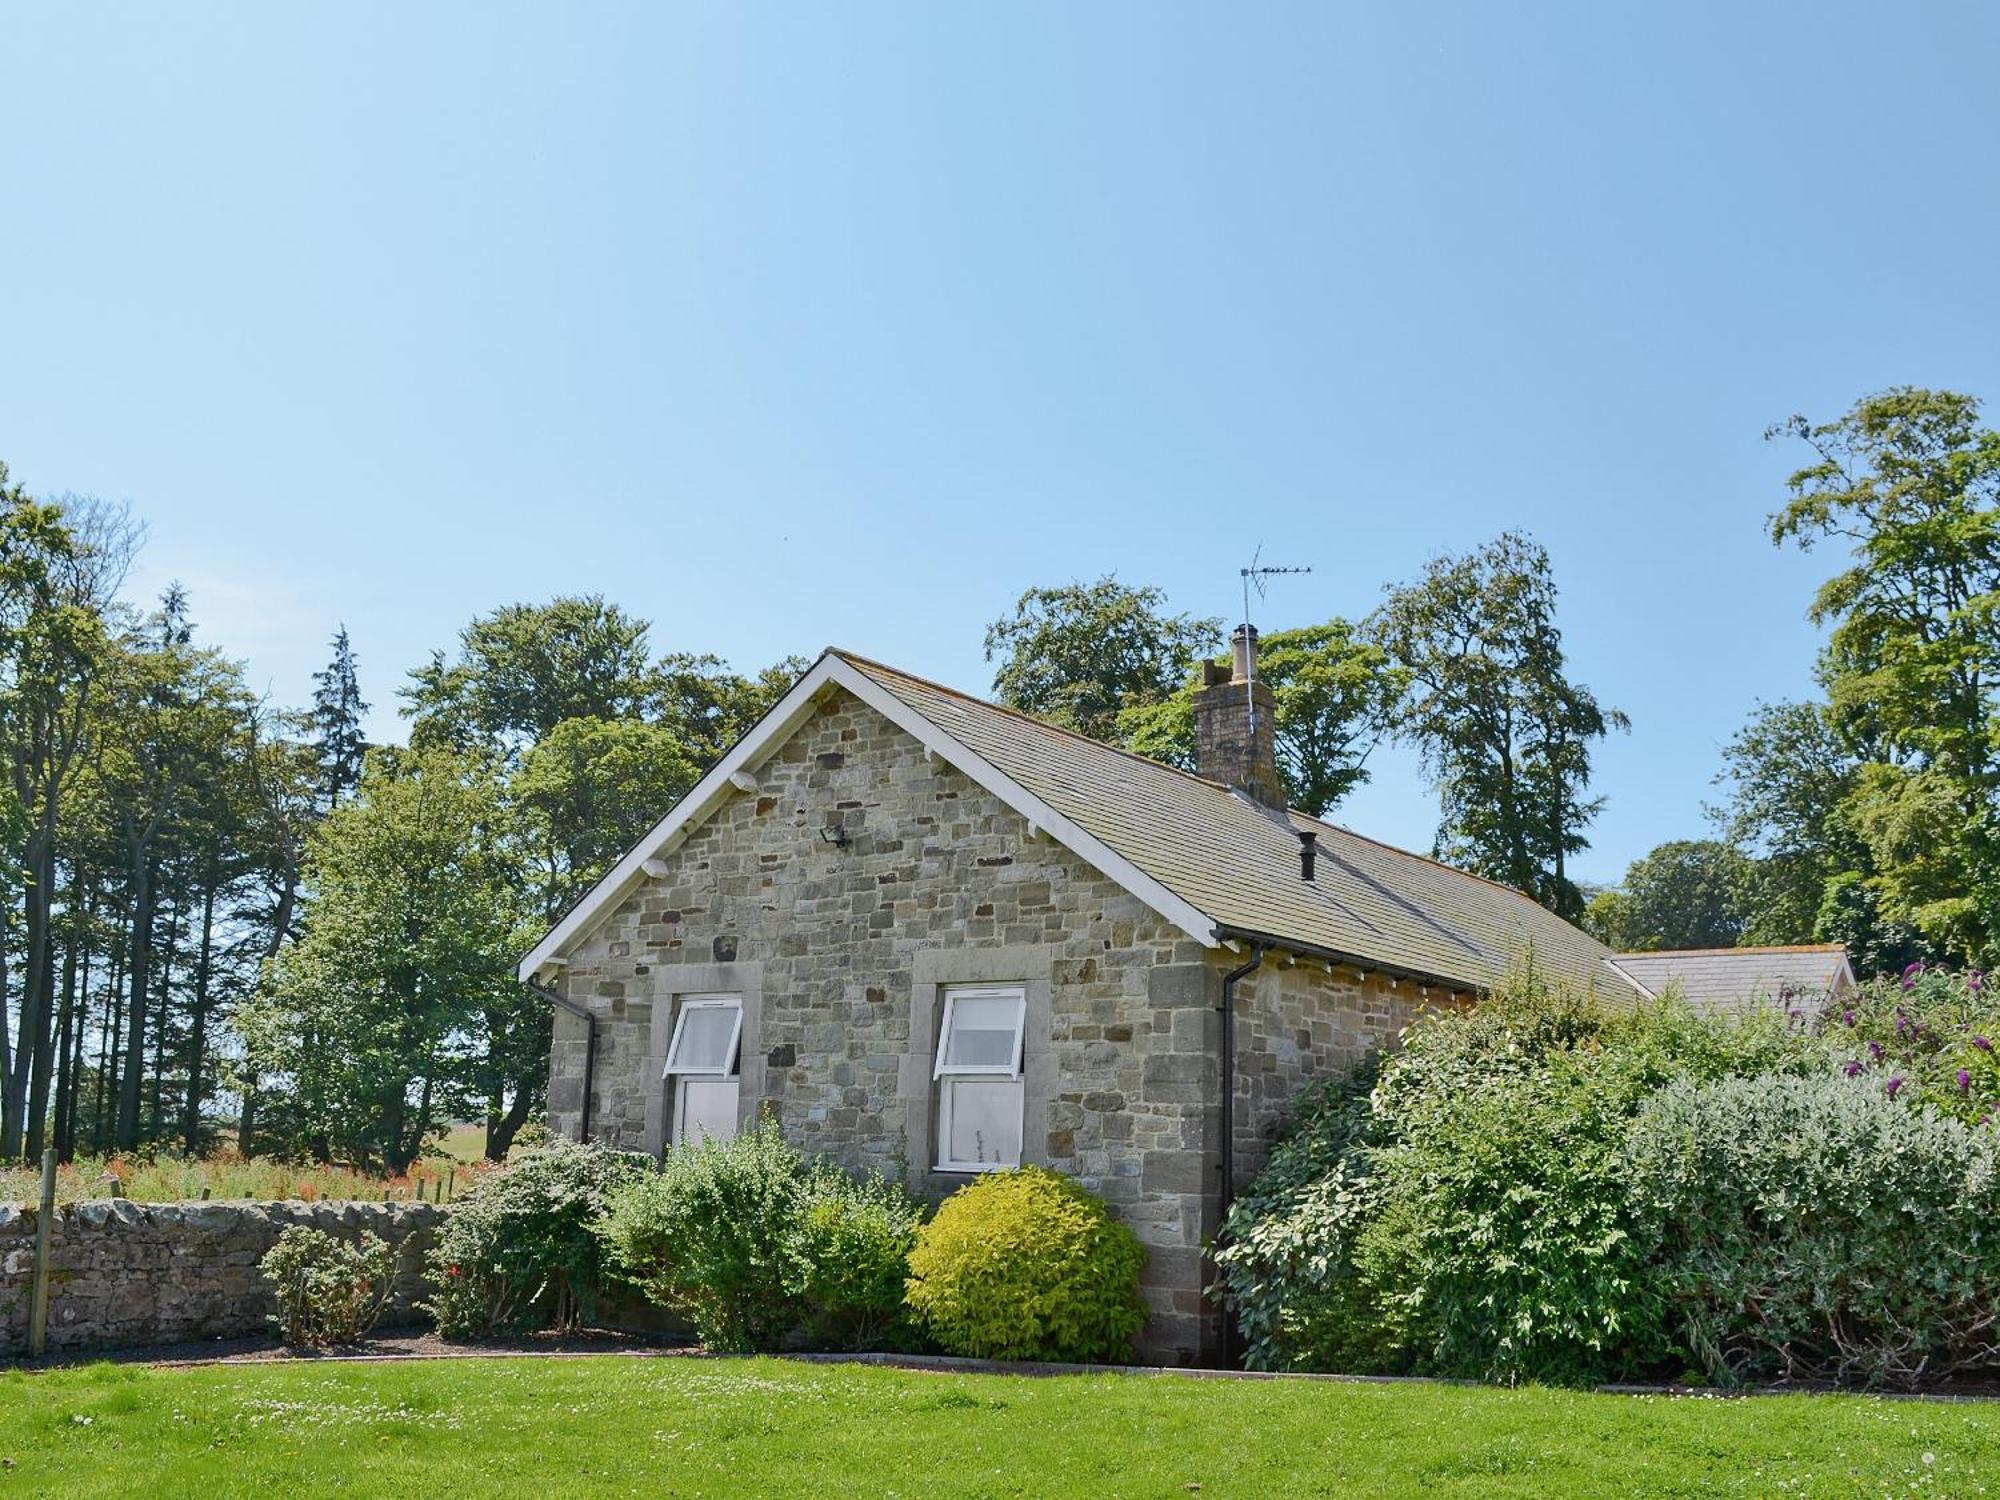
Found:
<svg viewBox="0 0 2000 1500"><path fill-rule="evenodd" d="M2000 432L1948 390L1894 388L1770 436L1812 462L1772 516L1778 544L1848 548L1810 618L1830 626L1824 716L1852 760L1840 830L1866 850L1836 906L1932 950L2000 956L1994 690L2000 668ZM1824 904L1824 902L1822 902Z"/></svg>

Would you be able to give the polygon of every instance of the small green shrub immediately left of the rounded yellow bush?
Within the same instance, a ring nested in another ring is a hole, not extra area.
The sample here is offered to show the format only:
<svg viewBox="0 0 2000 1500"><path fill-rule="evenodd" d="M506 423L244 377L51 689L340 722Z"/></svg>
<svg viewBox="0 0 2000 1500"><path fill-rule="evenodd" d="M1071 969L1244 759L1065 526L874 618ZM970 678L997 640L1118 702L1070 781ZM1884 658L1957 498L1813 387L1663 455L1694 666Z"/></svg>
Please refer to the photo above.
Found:
<svg viewBox="0 0 2000 1500"><path fill-rule="evenodd" d="M814 1348L908 1350L920 1340L904 1306L924 1204L886 1178L856 1182L816 1168L786 1242L786 1290Z"/></svg>

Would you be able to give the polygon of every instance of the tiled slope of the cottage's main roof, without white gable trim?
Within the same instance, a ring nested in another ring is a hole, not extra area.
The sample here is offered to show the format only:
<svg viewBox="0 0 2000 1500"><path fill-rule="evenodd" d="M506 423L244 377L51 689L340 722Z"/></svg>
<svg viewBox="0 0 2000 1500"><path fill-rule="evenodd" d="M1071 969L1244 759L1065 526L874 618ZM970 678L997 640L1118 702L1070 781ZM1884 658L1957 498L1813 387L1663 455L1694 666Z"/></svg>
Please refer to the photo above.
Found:
<svg viewBox="0 0 2000 1500"><path fill-rule="evenodd" d="M1418 980L1490 988L1532 944L1546 972L1620 998L1610 948L1518 890L1300 812L1274 814L1220 782L836 652L912 712L1214 918ZM1320 834L1316 880L1298 832Z"/></svg>

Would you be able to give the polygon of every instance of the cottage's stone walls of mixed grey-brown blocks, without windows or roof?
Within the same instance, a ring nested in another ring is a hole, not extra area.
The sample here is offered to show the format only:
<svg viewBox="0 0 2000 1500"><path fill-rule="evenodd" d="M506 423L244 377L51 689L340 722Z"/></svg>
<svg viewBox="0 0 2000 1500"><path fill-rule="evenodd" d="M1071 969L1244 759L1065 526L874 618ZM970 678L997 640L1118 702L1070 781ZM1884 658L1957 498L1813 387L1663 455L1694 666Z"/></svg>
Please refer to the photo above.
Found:
<svg viewBox="0 0 2000 1500"><path fill-rule="evenodd" d="M1212 1360L1218 1006L1240 956L1194 942L838 688L756 776L568 954L560 984L598 1018L592 1136L662 1148L676 1000L734 992L740 1118L768 1108L796 1146L942 1198L968 1178L932 1170L940 990L1020 982L1022 1158L1080 1178L1148 1246L1142 1358ZM828 826L846 848L820 838ZM1240 986L1240 1172L1298 1082L1404 1020L1378 986L1324 968L1262 986ZM584 1024L558 1012L560 1134L578 1132L582 1072Z"/></svg>

